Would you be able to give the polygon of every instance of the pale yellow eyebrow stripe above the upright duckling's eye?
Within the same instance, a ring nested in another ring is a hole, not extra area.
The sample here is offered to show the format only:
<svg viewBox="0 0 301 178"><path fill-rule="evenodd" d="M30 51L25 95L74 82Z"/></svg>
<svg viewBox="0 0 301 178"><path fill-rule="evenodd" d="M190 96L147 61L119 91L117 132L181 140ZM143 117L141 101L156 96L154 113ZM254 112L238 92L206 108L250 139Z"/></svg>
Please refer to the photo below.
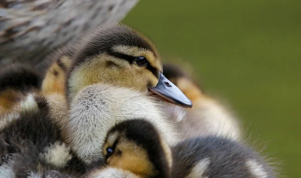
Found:
<svg viewBox="0 0 301 178"><path fill-rule="evenodd" d="M112 50L129 56L136 56L136 57L143 56L148 60L150 65L156 67L160 72L162 72L163 70L161 60L156 58L155 54L152 51L143 48L122 46L122 45L114 46Z"/></svg>

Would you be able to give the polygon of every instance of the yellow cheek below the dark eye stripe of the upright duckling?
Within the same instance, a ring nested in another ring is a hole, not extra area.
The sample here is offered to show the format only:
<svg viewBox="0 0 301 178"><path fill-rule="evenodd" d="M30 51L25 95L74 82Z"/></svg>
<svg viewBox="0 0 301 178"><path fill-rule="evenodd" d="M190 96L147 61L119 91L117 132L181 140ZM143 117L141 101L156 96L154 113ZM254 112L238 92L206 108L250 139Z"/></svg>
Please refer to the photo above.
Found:
<svg viewBox="0 0 301 178"><path fill-rule="evenodd" d="M71 73L69 79L70 97L87 85L96 83L135 88L142 92L155 87L158 78L149 70L130 65L126 60L108 54L100 54L81 63Z"/></svg>

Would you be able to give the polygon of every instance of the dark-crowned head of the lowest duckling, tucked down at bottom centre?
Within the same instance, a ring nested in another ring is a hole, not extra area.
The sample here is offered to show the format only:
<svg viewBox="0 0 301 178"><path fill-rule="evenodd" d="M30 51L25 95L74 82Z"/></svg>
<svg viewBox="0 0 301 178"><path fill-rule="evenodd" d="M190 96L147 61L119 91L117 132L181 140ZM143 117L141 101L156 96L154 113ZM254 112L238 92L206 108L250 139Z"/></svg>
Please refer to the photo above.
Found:
<svg viewBox="0 0 301 178"><path fill-rule="evenodd" d="M103 146L106 164L139 177L169 177L170 147L148 121L133 119L109 130Z"/></svg>

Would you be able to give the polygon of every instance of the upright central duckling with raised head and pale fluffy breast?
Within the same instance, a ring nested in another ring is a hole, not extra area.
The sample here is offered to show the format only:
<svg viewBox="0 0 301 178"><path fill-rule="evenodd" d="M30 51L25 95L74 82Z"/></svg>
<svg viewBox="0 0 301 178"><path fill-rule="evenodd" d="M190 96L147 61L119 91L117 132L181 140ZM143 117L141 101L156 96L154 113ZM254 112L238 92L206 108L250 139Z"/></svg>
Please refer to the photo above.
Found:
<svg viewBox="0 0 301 178"><path fill-rule="evenodd" d="M69 117L63 135L84 161L103 157L105 133L113 125L143 118L159 129L169 144L177 126L167 119L149 92L183 107L191 101L162 74L154 45L138 32L109 25L95 29L77 46L66 77Z"/></svg>

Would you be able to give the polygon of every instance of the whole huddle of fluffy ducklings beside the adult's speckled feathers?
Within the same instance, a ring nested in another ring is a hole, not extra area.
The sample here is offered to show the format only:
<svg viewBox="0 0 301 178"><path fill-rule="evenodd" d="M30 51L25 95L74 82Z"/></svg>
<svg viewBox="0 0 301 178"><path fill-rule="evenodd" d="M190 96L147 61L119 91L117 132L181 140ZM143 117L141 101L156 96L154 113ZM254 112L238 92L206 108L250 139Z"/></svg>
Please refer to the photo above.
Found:
<svg viewBox="0 0 301 178"><path fill-rule="evenodd" d="M233 114L131 28L48 61L44 77L0 71L0 177L275 177Z"/></svg>

